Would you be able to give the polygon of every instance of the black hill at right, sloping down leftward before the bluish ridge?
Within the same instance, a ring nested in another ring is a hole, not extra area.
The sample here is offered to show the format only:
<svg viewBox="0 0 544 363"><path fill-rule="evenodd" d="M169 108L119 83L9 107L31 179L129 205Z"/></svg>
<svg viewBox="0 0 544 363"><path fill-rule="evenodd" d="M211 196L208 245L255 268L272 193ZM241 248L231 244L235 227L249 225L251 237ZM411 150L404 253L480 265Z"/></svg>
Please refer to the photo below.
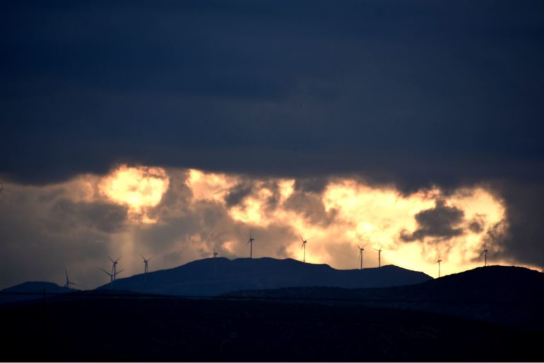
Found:
<svg viewBox="0 0 544 363"><path fill-rule="evenodd" d="M226 296L412 309L524 328L544 326L544 274L523 267L478 267L421 284L384 289L294 287Z"/></svg>

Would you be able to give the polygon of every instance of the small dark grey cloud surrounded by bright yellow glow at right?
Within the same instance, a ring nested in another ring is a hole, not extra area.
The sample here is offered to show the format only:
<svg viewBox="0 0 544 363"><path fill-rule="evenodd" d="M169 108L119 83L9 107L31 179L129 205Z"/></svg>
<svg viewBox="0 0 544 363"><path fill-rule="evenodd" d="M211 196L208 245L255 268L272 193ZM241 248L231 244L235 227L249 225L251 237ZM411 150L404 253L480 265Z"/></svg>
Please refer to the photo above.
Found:
<svg viewBox="0 0 544 363"><path fill-rule="evenodd" d="M418 229L413 233L402 231L402 241L423 241L426 237L440 240L463 234L463 228L459 225L463 222L463 211L456 207L448 207L443 200L437 200L432 209L426 209L415 215Z"/></svg>

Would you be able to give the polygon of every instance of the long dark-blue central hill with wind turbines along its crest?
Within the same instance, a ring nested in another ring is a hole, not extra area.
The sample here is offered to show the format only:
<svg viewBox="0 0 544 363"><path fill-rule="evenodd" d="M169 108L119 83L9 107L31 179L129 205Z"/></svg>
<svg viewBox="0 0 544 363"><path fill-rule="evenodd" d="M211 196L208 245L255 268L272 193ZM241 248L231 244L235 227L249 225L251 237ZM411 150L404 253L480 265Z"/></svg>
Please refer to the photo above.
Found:
<svg viewBox="0 0 544 363"><path fill-rule="evenodd" d="M329 265L274 258L207 258L170 270L116 280L99 289L165 295L215 296L236 290L280 287L392 287L432 280L423 272L392 265L363 270L336 270Z"/></svg>

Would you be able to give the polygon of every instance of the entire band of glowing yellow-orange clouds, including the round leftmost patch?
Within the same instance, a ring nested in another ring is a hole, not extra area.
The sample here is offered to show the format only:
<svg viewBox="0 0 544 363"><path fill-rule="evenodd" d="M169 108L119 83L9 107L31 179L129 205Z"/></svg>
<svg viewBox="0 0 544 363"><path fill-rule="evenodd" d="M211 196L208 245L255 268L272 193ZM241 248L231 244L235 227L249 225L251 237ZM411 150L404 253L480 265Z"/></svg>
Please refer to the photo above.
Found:
<svg viewBox="0 0 544 363"><path fill-rule="evenodd" d="M436 187L402 195L393 186L377 187L350 178L331 178L324 191L317 194L295 190L293 179L260 180L196 169L171 170L170 173L173 175L172 180L185 183L191 196L179 200L183 200L183 205L170 205L164 211L154 214L151 212L159 207L170 183L170 175L163 168L120 166L103 178L81 176L65 189L79 200L92 201L98 197L123 204L128 207L132 221L144 224L155 223L160 216L175 220L178 215L196 210L200 202L213 202L216 207L224 208L237 226L246 224L247 231L257 229L266 233L268 228L277 226L290 231L292 238L288 241L275 242L283 246L284 255L286 253L291 258L302 260L300 234L310 238L306 248L307 262L327 263L342 269L358 267L357 245L367 243L363 253L365 267L378 265L378 253L373 248L381 246L382 265L394 264L436 276L436 261L440 256L443 261L442 275L446 275L482 265L479 256L483 243L487 233L495 226L501 226L494 229L495 234L508 233L504 203L485 188L463 188L445 195ZM239 185L250 185L251 191L241 202L227 204L227 195ZM275 201L273 207L268 204L269 200ZM463 233L448 238L424 236L402 240L403 233L414 234L421 228L416 215L435 208L438 200L444 207L463 212L462 220L455 226L462 229ZM294 209L293 201L298 203L295 203L297 207ZM308 217L314 212L312 208L316 203L326 221ZM474 220L480 221L482 228L468 228ZM230 227L223 224L217 228ZM215 232L223 234L229 231ZM200 236L198 231L191 238L191 241L183 239L179 243L184 245L190 242L191 246L200 246L201 250L209 247L210 241ZM285 234L282 238L286 238ZM217 247L236 255L244 247L244 242L228 234L227 239L213 243L221 243ZM488 248L494 252L500 250L500 246ZM509 261L502 263L507 264Z"/></svg>

